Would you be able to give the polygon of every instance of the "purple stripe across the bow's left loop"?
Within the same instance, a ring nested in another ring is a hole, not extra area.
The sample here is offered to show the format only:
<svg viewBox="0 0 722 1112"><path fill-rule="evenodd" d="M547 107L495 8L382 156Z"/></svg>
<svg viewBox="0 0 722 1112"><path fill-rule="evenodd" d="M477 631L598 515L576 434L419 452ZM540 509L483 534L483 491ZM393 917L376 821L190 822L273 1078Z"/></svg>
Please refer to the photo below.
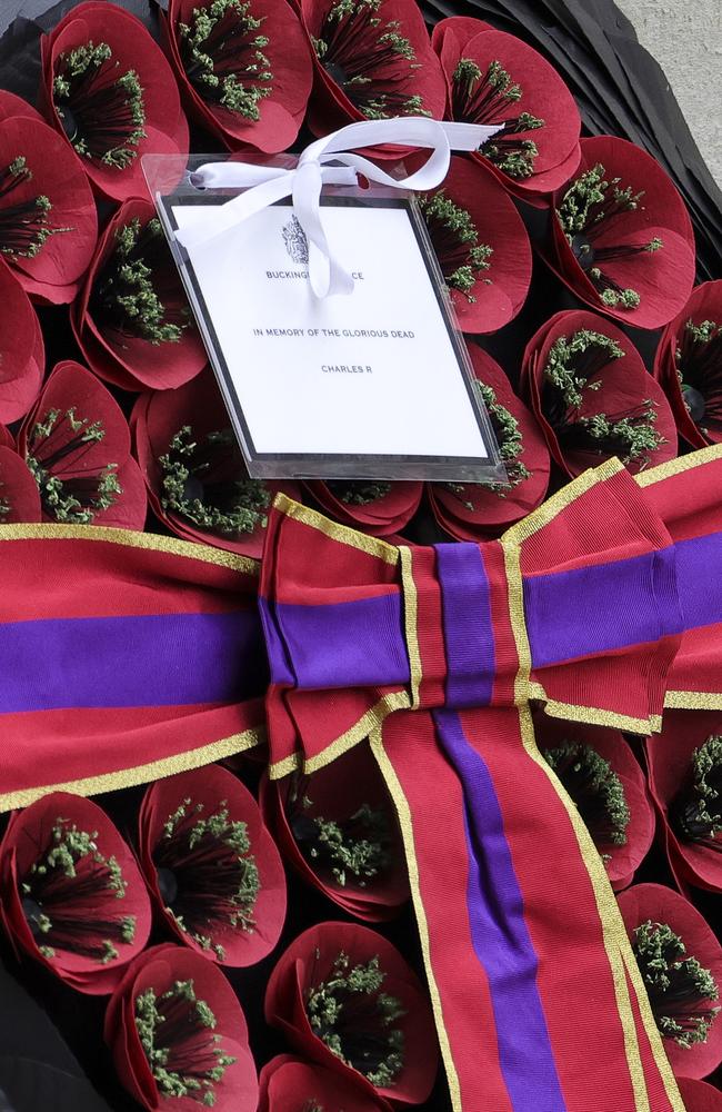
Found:
<svg viewBox="0 0 722 1112"><path fill-rule="evenodd" d="M321 606L259 603L273 683L305 691L409 683L400 595Z"/></svg>

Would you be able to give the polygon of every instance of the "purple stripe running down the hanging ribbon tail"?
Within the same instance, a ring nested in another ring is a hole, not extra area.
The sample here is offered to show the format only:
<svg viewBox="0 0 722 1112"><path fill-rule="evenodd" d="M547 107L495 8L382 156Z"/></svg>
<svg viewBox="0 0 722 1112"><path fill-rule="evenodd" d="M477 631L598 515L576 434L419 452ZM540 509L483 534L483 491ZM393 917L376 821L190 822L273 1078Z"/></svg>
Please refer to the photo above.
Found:
<svg viewBox="0 0 722 1112"><path fill-rule="evenodd" d="M469 852L467 904L474 953L489 982L499 1061L514 1112L564 1112L539 963L489 770L467 741L459 715L434 711L437 735L461 781ZM489 1032L480 1031L480 1039Z"/></svg>

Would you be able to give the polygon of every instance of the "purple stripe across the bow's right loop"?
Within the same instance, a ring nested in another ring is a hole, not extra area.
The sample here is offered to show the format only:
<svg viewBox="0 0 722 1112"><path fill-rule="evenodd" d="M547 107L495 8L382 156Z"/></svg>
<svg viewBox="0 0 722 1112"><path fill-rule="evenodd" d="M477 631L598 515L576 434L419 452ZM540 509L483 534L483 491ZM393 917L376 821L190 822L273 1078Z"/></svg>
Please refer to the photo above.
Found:
<svg viewBox="0 0 722 1112"><path fill-rule="evenodd" d="M524 579L533 667L681 633L675 557L671 545L612 564Z"/></svg>

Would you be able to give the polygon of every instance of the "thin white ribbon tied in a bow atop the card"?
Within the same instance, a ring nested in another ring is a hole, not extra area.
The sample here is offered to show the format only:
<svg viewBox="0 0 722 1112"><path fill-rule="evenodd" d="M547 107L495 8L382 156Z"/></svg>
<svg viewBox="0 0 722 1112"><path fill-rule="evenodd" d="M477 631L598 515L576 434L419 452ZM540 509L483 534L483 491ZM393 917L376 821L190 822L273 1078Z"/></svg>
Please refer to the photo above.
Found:
<svg viewBox="0 0 722 1112"><path fill-rule="evenodd" d="M323 230L320 197L324 185L355 186L362 173L370 181L393 189L428 190L441 185L449 171L452 150L477 150L503 127L477 123L441 123L422 116L390 120L363 120L317 139L289 170L250 162L207 162L190 175L204 189L244 189L224 205L209 205L201 220L176 232L188 250L204 250L241 221L285 197L293 198L295 218L309 244L309 279L317 297L350 294L353 279L333 255ZM423 166L408 178L393 178L355 148L390 143L394 147L430 148ZM351 148L351 150L349 150ZM327 166L328 162L342 165Z"/></svg>

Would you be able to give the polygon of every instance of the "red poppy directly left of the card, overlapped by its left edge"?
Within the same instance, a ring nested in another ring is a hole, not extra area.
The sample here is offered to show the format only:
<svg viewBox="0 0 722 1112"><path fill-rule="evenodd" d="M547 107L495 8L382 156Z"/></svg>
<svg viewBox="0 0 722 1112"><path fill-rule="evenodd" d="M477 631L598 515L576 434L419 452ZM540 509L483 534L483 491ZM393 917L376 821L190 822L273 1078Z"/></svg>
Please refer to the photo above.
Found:
<svg viewBox="0 0 722 1112"><path fill-rule="evenodd" d="M111 217L71 321L92 370L126 390L176 389L205 365L205 349L150 201L131 198Z"/></svg>

